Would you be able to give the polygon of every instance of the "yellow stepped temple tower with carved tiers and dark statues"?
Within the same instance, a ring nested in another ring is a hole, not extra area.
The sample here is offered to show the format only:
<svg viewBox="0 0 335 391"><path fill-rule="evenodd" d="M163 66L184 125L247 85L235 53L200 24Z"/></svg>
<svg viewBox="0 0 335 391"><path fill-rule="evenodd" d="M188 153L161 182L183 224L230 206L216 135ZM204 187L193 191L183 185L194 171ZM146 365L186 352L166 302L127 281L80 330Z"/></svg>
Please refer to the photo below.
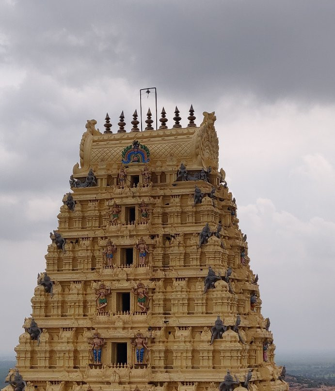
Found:
<svg viewBox="0 0 335 391"><path fill-rule="evenodd" d="M203 115L87 121L4 390L288 390Z"/></svg>

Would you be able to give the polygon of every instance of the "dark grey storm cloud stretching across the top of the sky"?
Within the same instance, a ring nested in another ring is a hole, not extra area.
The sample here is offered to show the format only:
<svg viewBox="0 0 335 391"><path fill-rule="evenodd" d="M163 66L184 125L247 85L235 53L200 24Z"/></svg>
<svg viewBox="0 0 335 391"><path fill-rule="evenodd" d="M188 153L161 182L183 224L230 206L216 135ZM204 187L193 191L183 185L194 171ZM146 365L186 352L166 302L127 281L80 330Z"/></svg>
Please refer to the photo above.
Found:
<svg viewBox="0 0 335 391"><path fill-rule="evenodd" d="M2 2L2 59L74 87L127 74L175 95L247 91L333 101L335 3ZM187 89L187 90L186 90ZM183 92L181 92L183 93Z"/></svg>

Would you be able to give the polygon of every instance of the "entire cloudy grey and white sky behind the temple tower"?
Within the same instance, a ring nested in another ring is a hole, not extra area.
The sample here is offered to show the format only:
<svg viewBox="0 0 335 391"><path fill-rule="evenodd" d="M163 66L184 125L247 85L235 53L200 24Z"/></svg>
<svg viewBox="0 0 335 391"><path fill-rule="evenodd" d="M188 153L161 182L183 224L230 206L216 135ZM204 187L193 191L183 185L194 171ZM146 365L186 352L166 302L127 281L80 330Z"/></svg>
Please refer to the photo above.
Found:
<svg viewBox="0 0 335 391"><path fill-rule="evenodd" d="M335 1L0 1L0 353L13 352L87 119L216 112L279 353L334 351ZM144 100L145 105L152 101ZM153 109L153 106L151 106Z"/></svg>

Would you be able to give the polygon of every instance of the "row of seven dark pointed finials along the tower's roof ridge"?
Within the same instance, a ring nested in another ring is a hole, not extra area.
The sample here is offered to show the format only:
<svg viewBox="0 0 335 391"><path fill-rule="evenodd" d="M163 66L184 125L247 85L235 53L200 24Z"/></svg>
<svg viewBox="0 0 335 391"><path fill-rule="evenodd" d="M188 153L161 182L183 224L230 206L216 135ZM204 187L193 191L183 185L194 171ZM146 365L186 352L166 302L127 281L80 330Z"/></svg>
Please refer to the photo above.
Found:
<svg viewBox="0 0 335 391"><path fill-rule="evenodd" d="M193 110L192 105L190 107L189 112L190 112L190 115L187 117L187 119L189 120L189 123L188 123L187 127L188 128L195 127L196 126L196 124L194 123L195 116L194 116L194 110ZM160 117L161 125L160 125L159 129L167 129L168 127L166 126L166 122L168 121L168 119L166 118L166 111L164 110L164 107L162 108L162 111L160 114L161 114L161 117ZM133 114L133 120L130 122L133 125L130 132L140 132L140 129L137 126L140 122L137 120L137 117L138 117L137 110L135 110L134 114ZM150 111L150 107L148 109L148 112L146 113L146 117L147 117L147 119L145 120L146 127L144 128L144 130L154 130L154 128L152 127L152 123L154 121L151 119L152 114ZM126 122L125 122L125 115L123 113L123 110L122 110L122 113L120 114L119 118L120 118L120 121L118 122L119 130L117 131L117 133L126 133L126 130L125 130ZM106 130L104 131L104 134L113 133L111 130L111 127L112 127L112 124L110 121L111 119L110 119L108 113L106 114L105 120L106 120L106 123L104 124L104 127L106 128ZM175 117L173 118L173 120L175 121L173 128L181 128L182 127L180 125L181 117L179 116L179 110L178 110L177 106L175 106Z"/></svg>

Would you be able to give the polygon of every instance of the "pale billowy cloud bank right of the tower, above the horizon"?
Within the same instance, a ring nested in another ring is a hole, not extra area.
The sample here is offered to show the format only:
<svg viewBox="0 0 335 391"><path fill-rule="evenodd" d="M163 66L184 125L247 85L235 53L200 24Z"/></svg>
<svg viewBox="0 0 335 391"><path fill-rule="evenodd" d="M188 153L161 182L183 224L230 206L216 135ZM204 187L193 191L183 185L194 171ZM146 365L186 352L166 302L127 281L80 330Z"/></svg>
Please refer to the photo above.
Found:
<svg viewBox="0 0 335 391"><path fill-rule="evenodd" d="M335 297L335 223L319 217L303 221L278 211L269 199L240 206L239 220L248 235L251 268L259 274L262 313L271 318L279 350L334 349L324 335L331 335L335 322L329 311ZM311 335L318 322L322 335Z"/></svg>

